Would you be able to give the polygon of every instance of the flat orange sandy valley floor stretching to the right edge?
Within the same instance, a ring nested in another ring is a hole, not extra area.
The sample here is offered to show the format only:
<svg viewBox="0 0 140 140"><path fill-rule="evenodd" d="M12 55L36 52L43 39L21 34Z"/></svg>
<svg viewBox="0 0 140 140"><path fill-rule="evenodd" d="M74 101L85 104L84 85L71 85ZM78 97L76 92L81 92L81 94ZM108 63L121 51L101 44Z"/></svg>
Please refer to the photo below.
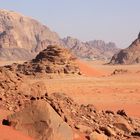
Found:
<svg viewBox="0 0 140 140"><path fill-rule="evenodd" d="M12 62L3 62L1 65ZM94 104L99 110L124 109L132 117L140 117L139 65L104 65L103 62L78 61L83 76L55 76L44 81L48 93L68 94L79 104ZM112 74L114 70L124 73ZM111 75L112 74L112 75Z"/></svg>

